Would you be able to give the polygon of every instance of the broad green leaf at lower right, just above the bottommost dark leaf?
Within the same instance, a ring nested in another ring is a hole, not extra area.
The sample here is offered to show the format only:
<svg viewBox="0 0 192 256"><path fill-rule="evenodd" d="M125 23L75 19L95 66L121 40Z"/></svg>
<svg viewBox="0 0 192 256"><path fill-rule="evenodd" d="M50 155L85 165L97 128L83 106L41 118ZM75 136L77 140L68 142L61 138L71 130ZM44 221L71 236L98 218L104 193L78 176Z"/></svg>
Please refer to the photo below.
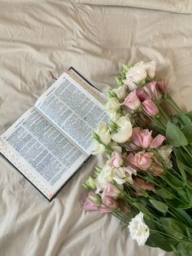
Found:
<svg viewBox="0 0 192 256"><path fill-rule="evenodd" d="M160 222L164 225L164 231L171 236L182 239L185 233L185 225L178 222L174 218L160 218Z"/></svg>

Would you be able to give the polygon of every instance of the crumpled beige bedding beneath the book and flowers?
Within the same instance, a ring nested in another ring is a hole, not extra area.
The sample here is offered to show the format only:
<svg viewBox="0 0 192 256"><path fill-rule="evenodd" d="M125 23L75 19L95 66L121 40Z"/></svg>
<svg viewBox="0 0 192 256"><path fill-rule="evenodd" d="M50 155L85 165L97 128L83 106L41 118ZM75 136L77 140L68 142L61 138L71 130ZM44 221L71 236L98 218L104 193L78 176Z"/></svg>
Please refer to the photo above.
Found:
<svg viewBox="0 0 192 256"><path fill-rule="evenodd" d="M0 1L0 134L65 68L100 90L121 64L155 60L177 102L192 109L190 1ZM119 220L85 214L81 183L103 159L91 157L49 203L0 157L1 256L163 256L138 247Z"/></svg>

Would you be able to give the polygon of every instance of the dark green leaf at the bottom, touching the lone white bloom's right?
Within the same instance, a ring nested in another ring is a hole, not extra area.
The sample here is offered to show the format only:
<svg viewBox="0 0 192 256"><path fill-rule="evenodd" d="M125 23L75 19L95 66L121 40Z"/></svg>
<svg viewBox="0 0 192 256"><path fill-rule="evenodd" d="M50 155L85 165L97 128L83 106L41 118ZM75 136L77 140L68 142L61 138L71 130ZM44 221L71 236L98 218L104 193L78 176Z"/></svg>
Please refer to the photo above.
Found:
<svg viewBox="0 0 192 256"><path fill-rule="evenodd" d="M147 239L146 245L149 245L151 247L159 247L160 249L164 249L164 251L166 252L171 252L171 245L177 246L177 242L168 239L168 236L162 236L152 233Z"/></svg>

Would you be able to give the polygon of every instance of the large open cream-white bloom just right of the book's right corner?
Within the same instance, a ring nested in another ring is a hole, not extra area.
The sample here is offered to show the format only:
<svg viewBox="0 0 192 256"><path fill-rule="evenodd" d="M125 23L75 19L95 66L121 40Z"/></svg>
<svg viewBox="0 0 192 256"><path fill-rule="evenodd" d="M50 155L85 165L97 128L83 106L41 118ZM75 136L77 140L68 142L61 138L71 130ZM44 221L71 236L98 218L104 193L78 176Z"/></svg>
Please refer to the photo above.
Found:
<svg viewBox="0 0 192 256"><path fill-rule="evenodd" d="M111 135L111 139L117 143L125 143L132 135L132 124L129 120L129 115L120 117L116 124L120 129L117 130L115 134Z"/></svg>

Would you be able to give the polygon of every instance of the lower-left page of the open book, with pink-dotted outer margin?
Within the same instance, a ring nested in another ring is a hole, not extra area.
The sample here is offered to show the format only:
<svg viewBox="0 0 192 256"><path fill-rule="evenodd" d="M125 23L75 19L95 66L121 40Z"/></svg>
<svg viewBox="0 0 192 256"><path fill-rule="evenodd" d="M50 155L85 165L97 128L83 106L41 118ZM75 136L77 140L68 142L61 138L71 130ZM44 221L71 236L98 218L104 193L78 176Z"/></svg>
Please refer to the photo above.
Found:
<svg viewBox="0 0 192 256"><path fill-rule="evenodd" d="M48 198L88 157L37 108L30 108L0 138L0 152Z"/></svg>

